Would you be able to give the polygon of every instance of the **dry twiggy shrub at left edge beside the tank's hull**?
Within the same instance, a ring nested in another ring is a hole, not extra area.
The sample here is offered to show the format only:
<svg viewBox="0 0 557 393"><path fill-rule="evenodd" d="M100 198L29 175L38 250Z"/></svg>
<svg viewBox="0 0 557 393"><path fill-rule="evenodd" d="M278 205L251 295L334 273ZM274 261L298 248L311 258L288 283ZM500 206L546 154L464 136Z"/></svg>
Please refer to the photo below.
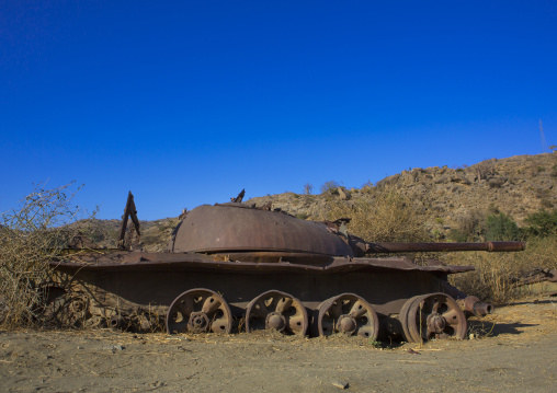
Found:
<svg viewBox="0 0 557 393"><path fill-rule="evenodd" d="M67 224L81 218L72 205L72 184L45 189L38 184L19 207L0 215L0 325L41 324L44 284L72 233ZM78 187L79 190L79 187Z"/></svg>

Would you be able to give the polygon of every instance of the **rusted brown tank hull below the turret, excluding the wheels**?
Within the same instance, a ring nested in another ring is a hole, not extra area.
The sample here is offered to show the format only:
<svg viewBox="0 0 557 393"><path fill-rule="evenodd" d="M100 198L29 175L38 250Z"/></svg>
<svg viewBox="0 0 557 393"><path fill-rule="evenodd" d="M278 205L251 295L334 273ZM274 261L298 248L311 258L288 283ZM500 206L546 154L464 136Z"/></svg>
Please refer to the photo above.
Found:
<svg viewBox="0 0 557 393"><path fill-rule="evenodd" d="M181 293L194 288L220 294L234 319L241 321L249 303L273 289L302 302L308 314L309 335L318 335L320 304L341 293L354 293L377 314L382 336L401 335L397 316L409 299L446 291L448 274L471 269L419 266L403 257L336 257L327 266L315 266L122 251L79 254L52 265L56 271L54 285L87 299L88 316L96 322L141 312L163 317Z"/></svg>

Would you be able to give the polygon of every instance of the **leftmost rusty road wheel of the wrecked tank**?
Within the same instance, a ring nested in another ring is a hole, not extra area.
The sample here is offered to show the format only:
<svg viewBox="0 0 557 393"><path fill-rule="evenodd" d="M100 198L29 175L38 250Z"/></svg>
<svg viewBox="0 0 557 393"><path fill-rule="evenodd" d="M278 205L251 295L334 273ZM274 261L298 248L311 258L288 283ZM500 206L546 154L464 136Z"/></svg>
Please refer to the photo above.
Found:
<svg viewBox="0 0 557 393"><path fill-rule="evenodd" d="M167 332L230 333L232 315L223 297L209 289L196 288L174 299L167 312Z"/></svg>

